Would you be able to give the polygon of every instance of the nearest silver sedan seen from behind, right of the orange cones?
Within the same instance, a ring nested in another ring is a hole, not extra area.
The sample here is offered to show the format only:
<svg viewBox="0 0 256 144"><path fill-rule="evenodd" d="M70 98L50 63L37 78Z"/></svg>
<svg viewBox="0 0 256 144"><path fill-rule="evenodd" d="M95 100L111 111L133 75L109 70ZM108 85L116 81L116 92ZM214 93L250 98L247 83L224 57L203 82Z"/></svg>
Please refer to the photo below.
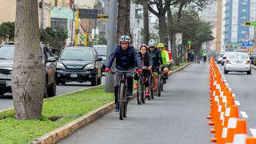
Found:
<svg viewBox="0 0 256 144"><path fill-rule="evenodd" d="M228 74L230 71L251 74L250 58L248 54L238 52L228 54L224 65L224 73Z"/></svg>

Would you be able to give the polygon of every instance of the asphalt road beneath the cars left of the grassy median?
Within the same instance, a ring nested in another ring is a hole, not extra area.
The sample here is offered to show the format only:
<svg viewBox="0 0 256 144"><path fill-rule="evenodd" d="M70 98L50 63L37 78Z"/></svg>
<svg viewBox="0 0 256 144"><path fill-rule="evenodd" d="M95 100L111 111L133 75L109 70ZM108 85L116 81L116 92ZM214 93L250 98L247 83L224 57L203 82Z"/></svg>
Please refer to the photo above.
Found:
<svg viewBox="0 0 256 144"><path fill-rule="evenodd" d="M102 77L102 83L105 83L105 77ZM75 90L82 90L90 87L90 82L67 82L64 86L57 86L56 95L65 94ZM0 96L0 110L6 110L14 107L11 94Z"/></svg>

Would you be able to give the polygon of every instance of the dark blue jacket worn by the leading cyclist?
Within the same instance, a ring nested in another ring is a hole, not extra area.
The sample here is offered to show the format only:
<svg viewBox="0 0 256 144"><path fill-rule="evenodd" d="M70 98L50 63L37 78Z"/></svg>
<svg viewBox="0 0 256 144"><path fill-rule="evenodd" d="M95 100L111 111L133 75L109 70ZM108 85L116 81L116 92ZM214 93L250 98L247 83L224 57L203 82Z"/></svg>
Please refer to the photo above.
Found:
<svg viewBox="0 0 256 144"><path fill-rule="evenodd" d="M127 50L122 50L121 46L117 46L110 54L110 58L106 62L106 68L112 66L114 58L116 58L115 67L119 70L130 70L134 66L138 66L139 69L142 68L141 58L134 49L134 46L129 46Z"/></svg>

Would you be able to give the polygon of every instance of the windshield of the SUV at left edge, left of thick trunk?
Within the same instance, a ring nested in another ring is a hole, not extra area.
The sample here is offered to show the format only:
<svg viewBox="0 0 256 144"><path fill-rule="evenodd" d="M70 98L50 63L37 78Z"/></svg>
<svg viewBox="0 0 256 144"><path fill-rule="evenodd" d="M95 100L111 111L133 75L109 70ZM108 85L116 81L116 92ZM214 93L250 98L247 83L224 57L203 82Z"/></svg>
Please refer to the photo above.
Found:
<svg viewBox="0 0 256 144"><path fill-rule="evenodd" d="M14 46L0 47L0 59L14 59Z"/></svg>

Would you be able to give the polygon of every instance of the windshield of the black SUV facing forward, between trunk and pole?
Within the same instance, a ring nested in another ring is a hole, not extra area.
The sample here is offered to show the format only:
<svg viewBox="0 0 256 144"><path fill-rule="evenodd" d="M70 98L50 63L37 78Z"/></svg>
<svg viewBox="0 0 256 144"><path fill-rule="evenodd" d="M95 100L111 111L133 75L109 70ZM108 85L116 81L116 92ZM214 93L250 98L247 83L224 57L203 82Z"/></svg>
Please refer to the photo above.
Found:
<svg viewBox="0 0 256 144"><path fill-rule="evenodd" d="M92 50L66 49L63 51L61 60L92 61L94 55Z"/></svg>

